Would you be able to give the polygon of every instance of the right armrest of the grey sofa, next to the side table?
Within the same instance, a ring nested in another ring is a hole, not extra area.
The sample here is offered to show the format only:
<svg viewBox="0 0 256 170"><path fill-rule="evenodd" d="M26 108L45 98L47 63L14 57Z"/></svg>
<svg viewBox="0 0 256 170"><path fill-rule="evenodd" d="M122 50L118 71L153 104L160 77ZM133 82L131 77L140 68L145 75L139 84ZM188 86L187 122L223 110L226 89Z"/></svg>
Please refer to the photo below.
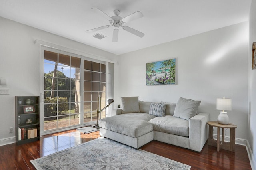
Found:
<svg viewBox="0 0 256 170"><path fill-rule="evenodd" d="M198 113L189 119L189 145L190 149L200 152L208 139L209 113Z"/></svg>

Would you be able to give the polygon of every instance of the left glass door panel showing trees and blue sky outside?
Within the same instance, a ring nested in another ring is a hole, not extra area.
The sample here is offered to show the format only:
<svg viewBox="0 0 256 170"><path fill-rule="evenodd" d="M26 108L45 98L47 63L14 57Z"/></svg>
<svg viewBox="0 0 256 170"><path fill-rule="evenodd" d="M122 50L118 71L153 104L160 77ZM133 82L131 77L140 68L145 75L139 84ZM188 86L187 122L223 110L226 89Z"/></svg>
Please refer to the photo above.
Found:
<svg viewBox="0 0 256 170"><path fill-rule="evenodd" d="M44 131L80 124L81 59L44 51Z"/></svg>

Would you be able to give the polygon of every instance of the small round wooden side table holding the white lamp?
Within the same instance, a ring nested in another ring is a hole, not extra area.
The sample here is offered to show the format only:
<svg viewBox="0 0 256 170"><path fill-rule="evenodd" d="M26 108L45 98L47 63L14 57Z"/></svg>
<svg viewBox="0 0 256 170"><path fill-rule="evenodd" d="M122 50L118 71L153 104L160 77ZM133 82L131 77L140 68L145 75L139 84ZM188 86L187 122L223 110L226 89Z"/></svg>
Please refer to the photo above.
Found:
<svg viewBox="0 0 256 170"><path fill-rule="evenodd" d="M217 147L218 152L220 151L221 148L234 152L237 126L232 123L229 123L228 125L223 125L218 123L217 121L210 121L210 122L207 122L207 124L209 125L208 145ZM213 127L217 127L217 140L213 138ZM221 141L220 141L220 128L222 128ZM225 128L230 129L230 142L224 142Z"/></svg>

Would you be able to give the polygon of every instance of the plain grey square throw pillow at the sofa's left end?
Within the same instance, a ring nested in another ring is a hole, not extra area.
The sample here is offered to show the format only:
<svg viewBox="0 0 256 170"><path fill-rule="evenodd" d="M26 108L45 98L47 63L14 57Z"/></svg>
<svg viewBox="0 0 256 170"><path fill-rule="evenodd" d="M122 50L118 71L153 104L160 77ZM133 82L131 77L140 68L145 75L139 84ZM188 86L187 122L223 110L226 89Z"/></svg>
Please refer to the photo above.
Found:
<svg viewBox="0 0 256 170"><path fill-rule="evenodd" d="M121 97L122 113L140 112L139 97Z"/></svg>

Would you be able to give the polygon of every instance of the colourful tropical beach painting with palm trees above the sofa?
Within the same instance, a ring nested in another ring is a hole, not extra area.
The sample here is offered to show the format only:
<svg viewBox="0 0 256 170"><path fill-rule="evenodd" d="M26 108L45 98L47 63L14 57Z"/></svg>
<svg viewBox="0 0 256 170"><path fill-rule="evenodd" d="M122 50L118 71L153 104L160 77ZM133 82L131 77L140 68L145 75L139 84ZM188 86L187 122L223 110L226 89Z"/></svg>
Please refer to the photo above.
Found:
<svg viewBox="0 0 256 170"><path fill-rule="evenodd" d="M175 85L176 59L146 63L146 85Z"/></svg>

